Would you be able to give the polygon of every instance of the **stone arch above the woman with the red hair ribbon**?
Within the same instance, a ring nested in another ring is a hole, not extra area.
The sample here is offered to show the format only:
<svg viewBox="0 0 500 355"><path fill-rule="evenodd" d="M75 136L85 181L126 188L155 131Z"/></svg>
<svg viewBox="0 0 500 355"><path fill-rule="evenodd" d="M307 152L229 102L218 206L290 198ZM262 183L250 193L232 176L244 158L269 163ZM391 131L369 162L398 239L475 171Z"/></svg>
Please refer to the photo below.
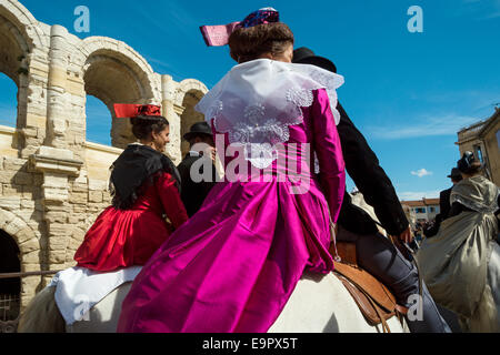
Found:
<svg viewBox="0 0 500 355"><path fill-rule="evenodd" d="M158 103L160 83L149 63L128 44L104 37L81 42L73 62L81 68L86 94L101 100L112 118L111 145L136 141L130 122L114 116L114 103Z"/></svg>

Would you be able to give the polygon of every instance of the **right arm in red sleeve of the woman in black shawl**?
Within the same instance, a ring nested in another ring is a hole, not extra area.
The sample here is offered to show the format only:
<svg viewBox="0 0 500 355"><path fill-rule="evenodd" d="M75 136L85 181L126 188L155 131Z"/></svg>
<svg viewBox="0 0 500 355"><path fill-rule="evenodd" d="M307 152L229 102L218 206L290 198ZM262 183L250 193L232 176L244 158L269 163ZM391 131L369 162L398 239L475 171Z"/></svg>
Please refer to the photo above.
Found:
<svg viewBox="0 0 500 355"><path fill-rule="evenodd" d="M160 197L163 211L178 229L188 221L188 213L176 186L176 180L169 173L163 173L157 181L158 196Z"/></svg>

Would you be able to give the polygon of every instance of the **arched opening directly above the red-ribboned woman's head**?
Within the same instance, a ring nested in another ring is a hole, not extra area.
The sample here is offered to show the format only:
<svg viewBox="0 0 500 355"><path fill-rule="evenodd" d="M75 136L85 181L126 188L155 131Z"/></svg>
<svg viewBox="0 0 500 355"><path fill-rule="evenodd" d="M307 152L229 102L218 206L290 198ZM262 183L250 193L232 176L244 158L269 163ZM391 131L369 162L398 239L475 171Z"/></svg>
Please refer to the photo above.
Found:
<svg viewBox="0 0 500 355"><path fill-rule="evenodd" d="M140 79L136 72L129 67L128 60L124 58L116 58L114 53L108 50L96 51L86 63L86 72L83 75L84 90L89 95L99 99L108 108L108 118L111 125L111 145L124 149L127 144L136 141L132 134L129 120L117 119L114 116L114 103L143 103L148 99L148 94L143 92ZM93 99L87 102L87 116L93 121L92 106L99 106ZM100 119L103 119L104 111L102 105L98 109ZM89 115L90 113L90 115ZM87 132L91 122L87 120ZM101 125L102 126L102 125ZM103 129L103 126L102 126ZM93 130L93 126L91 128ZM104 132L100 132L101 135Z"/></svg>

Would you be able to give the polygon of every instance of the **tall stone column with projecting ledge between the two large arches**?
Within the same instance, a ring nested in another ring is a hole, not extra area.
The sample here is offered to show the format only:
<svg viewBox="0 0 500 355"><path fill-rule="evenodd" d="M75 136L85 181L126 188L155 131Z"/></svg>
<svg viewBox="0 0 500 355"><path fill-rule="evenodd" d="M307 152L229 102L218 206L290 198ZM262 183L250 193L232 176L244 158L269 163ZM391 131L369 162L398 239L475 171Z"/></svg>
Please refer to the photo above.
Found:
<svg viewBox="0 0 500 355"><path fill-rule="evenodd" d="M43 174L42 203L47 240L43 258L48 270L64 268L67 246L72 225L68 222L69 176L78 176L83 162L77 160L70 148L77 149L74 139L70 142L68 110L71 98L68 81L68 64L71 47L68 30L54 24L50 31L49 78L47 87L47 135L44 145L30 155L30 169ZM72 143L72 144L70 144ZM44 277L46 281L51 276Z"/></svg>

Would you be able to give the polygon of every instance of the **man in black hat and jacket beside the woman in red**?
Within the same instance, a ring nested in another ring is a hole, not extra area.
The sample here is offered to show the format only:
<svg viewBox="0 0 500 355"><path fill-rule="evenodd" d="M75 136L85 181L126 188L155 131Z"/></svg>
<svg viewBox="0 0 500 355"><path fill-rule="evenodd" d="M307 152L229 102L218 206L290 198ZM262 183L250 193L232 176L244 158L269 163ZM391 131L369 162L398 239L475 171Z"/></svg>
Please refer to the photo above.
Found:
<svg viewBox="0 0 500 355"><path fill-rule="evenodd" d="M213 165L216 144L210 125L204 121L194 123L183 139L189 142L190 151L177 169L181 176L181 199L188 215L192 216L200 210L217 182L217 170ZM199 161L200 159L209 162ZM210 171L204 171L206 168Z"/></svg>

